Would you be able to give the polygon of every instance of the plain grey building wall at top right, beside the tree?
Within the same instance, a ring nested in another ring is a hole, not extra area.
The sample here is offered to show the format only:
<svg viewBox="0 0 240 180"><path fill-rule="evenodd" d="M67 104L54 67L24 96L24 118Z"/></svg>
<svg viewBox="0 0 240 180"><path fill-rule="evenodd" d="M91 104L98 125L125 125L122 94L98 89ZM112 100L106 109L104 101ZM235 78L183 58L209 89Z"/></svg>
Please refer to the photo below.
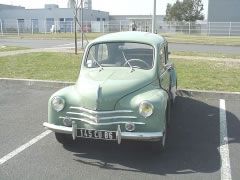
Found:
<svg viewBox="0 0 240 180"><path fill-rule="evenodd" d="M209 0L208 21L240 22L240 0Z"/></svg>

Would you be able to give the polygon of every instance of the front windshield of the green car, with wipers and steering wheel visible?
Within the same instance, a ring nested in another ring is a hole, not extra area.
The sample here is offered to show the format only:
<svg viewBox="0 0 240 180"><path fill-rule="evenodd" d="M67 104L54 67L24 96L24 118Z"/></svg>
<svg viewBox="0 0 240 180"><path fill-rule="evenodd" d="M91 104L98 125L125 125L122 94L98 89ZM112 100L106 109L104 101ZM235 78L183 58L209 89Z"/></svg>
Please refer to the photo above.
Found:
<svg viewBox="0 0 240 180"><path fill-rule="evenodd" d="M142 43L116 42L99 43L90 47L85 61L88 68L128 67L151 69L153 47Z"/></svg>

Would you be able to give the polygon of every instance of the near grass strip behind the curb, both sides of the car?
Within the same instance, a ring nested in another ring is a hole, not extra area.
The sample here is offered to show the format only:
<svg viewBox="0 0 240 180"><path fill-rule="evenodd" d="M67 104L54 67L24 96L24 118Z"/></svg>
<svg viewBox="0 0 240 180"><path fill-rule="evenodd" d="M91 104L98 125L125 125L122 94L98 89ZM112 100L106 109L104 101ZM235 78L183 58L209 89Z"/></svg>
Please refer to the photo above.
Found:
<svg viewBox="0 0 240 180"><path fill-rule="evenodd" d="M30 53L0 57L0 77L76 81L82 54ZM178 87L198 90L240 91L240 62L173 60Z"/></svg>

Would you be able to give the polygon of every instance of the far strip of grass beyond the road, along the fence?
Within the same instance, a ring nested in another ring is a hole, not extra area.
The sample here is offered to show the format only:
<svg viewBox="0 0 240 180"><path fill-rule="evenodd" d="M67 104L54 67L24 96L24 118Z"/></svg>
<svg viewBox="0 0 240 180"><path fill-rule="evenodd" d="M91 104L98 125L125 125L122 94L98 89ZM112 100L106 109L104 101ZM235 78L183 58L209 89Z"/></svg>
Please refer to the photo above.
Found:
<svg viewBox="0 0 240 180"><path fill-rule="evenodd" d="M105 33L85 33L88 40L95 39ZM231 45L240 46L240 36L207 36L207 35L189 35L183 33L164 33L161 34L172 43L193 43L193 44L211 44L211 45ZM24 39L73 39L74 33L36 33L36 34L8 34L0 38L24 38ZM81 34L78 33L78 39Z"/></svg>

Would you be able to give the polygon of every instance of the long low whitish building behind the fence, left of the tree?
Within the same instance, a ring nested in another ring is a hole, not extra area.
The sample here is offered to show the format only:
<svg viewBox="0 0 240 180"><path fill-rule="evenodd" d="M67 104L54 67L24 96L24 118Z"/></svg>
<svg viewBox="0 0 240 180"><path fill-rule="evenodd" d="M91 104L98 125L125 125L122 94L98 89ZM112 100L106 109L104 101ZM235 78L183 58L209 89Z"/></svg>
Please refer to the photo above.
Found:
<svg viewBox="0 0 240 180"><path fill-rule="evenodd" d="M41 9L25 9L0 4L0 33L73 32L74 0L68 0L67 5L68 8L46 4ZM83 0L83 7L85 32L116 32L133 29L151 32L151 15L109 15L109 12L93 10L92 0ZM81 19L81 10L79 11L78 17ZM163 15L157 15L158 32L165 32L166 24L164 25L163 17ZM80 31L80 29L78 26L77 30Z"/></svg>

